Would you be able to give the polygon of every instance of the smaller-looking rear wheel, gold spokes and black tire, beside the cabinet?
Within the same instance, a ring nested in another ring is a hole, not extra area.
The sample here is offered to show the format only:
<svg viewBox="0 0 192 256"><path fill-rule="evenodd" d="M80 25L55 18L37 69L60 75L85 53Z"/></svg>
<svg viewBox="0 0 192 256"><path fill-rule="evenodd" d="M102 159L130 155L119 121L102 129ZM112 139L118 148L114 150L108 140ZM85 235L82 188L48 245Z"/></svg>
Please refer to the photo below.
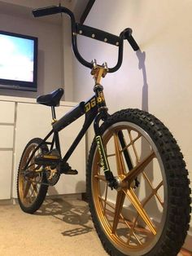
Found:
<svg viewBox="0 0 192 256"><path fill-rule="evenodd" d="M27 146L24 148L24 152L20 159L20 166L17 175L17 196L18 201L20 203L20 208L28 214L33 214L40 207L46 197L46 192L48 189L48 185L35 183L42 182L46 183L46 174L44 172L37 173L30 179L25 179L24 174L22 174L23 168L28 161L28 157L31 155L33 150L37 148L37 146L41 143L42 139L35 138L31 139ZM48 147L46 144L42 144L41 148L37 150L34 157L39 152L48 152ZM36 165L34 164L34 157L32 161L29 163L30 170L34 170ZM28 168L28 169L29 169Z"/></svg>

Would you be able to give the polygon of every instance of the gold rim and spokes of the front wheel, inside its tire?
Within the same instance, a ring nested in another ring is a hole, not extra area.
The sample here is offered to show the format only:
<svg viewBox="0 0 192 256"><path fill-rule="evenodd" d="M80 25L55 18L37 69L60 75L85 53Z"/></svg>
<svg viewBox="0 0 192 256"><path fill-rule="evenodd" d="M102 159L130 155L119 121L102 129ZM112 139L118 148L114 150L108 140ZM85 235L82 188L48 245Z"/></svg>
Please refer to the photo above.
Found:
<svg viewBox="0 0 192 256"><path fill-rule="evenodd" d="M103 132L117 189L108 187L95 143L90 152L88 181L94 225L111 255L160 255L155 250L163 242L162 235L167 228L168 178L159 142L155 142L158 133L153 130L150 135L146 131L150 121L141 127L120 119ZM158 132L160 135L161 131ZM132 170L128 168L130 162Z"/></svg>

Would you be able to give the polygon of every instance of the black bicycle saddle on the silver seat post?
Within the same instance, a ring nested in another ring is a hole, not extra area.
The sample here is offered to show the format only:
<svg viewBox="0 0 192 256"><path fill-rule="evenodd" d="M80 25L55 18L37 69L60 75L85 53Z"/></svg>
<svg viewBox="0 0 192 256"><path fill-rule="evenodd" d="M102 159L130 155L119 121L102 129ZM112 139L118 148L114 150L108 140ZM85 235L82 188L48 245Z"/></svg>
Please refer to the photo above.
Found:
<svg viewBox="0 0 192 256"><path fill-rule="evenodd" d="M46 106L56 107L59 106L61 97L63 96L63 88L59 88L50 92L48 95L41 95L37 97L37 103Z"/></svg>

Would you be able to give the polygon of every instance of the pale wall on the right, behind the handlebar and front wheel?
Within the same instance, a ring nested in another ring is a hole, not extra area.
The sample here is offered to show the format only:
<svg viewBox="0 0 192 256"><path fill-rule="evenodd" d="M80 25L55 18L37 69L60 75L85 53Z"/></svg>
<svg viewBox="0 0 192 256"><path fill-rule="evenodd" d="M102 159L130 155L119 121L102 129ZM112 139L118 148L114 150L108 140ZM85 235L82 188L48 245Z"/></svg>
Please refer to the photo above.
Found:
<svg viewBox="0 0 192 256"><path fill-rule="evenodd" d="M110 112L120 108L142 108L153 113L172 131L181 146L192 180L192 1L191 0L98 0L85 24L120 32L130 27L141 47L133 52L124 43L124 62L115 74L103 80ZM111 67L116 63L116 47L81 38L86 60L93 58ZM115 49L114 49L115 48ZM146 58L145 58L146 57ZM92 94L94 82L74 60L74 99ZM89 144L93 132L89 133Z"/></svg>

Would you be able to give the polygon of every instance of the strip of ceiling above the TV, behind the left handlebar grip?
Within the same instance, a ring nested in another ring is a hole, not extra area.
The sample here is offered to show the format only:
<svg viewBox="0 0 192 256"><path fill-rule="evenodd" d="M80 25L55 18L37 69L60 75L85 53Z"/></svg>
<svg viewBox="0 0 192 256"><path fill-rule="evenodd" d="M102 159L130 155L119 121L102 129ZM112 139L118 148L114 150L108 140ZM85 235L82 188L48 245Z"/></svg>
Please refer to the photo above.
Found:
<svg viewBox="0 0 192 256"><path fill-rule="evenodd" d="M0 14L17 15L28 19L33 19L33 9L57 6L59 3L61 3L63 7L67 7L74 13L76 21L79 22L88 2L89 0L0 0ZM38 19L53 24L62 24L60 14L41 17Z"/></svg>

